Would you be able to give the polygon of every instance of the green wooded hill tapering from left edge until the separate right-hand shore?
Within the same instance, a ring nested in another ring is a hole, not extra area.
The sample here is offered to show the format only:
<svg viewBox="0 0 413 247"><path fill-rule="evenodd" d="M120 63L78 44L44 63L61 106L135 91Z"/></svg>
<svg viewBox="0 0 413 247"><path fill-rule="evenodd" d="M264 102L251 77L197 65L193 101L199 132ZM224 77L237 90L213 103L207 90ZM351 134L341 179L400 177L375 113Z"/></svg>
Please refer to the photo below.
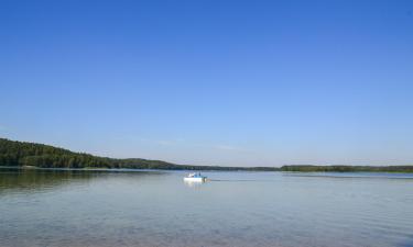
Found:
<svg viewBox="0 0 413 247"><path fill-rule="evenodd" d="M44 144L0 138L0 166L41 168L130 168L171 170L279 170L271 167L219 167L176 165L140 158L115 159L75 153Z"/></svg>

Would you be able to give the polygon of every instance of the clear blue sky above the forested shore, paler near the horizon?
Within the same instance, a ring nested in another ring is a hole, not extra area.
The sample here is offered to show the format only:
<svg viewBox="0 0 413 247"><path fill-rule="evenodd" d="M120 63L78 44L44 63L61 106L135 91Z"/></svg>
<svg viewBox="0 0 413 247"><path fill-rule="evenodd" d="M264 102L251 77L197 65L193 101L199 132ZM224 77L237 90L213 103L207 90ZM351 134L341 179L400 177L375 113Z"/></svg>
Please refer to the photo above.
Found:
<svg viewBox="0 0 413 247"><path fill-rule="evenodd" d="M178 164L413 164L412 1L0 1L0 136Z"/></svg>

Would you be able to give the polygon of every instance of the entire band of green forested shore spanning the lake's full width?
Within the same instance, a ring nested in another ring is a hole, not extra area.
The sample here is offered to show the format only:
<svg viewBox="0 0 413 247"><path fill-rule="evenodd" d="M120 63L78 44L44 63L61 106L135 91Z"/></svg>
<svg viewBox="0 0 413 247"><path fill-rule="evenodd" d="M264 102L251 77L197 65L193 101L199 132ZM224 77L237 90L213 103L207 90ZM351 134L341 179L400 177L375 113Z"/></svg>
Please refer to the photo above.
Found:
<svg viewBox="0 0 413 247"><path fill-rule="evenodd" d="M44 144L0 138L0 167L69 168L69 169L159 169L222 171L291 171L291 172L413 172L413 166L314 166L221 167L177 165L141 158L116 159L75 153Z"/></svg>

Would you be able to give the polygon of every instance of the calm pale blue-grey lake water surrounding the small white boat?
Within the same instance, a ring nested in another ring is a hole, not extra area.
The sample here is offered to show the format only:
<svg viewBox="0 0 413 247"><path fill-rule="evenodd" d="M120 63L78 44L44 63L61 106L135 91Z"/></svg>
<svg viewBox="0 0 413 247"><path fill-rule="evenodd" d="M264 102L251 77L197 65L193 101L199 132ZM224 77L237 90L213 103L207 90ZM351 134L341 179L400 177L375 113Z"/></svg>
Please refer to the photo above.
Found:
<svg viewBox="0 0 413 247"><path fill-rule="evenodd" d="M0 246L413 246L413 176L0 169Z"/></svg>

